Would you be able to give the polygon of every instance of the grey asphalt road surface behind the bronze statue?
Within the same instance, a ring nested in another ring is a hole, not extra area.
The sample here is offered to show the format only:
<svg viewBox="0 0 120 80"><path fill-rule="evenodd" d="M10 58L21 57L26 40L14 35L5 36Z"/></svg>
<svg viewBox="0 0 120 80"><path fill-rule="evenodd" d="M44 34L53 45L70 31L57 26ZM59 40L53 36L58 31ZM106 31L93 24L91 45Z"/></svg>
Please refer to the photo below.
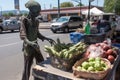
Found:
<svg viewBox="0 0 120 80"><path fill-rule="evenodd" d="M69 33L53 34L50 29L40 29L40 32L54 40L60 38L62 42L70 42ZM46 59L44 45L50 44L47 41L39 40L38 42ZM21 80L23 64L22 41L19 38L19 32L0 34L0 80ZM30 80L33 80L32 75Z"/></svg>

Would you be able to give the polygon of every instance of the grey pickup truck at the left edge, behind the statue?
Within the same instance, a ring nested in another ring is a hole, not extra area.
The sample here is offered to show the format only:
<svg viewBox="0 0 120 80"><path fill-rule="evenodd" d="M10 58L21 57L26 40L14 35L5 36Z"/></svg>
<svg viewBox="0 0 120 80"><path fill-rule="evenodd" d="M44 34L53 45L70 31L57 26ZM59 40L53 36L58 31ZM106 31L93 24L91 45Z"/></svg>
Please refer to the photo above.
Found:
<svg viewBox="0 0 120 80"><path fill-rule="evenodd" d="M11 32L13 32L14 30L19 30L19 29L20 29L20 21L16 19L4 20L0 24L0 33L2 33L2 31L8 31L8 30L11 30Z"/></svg>

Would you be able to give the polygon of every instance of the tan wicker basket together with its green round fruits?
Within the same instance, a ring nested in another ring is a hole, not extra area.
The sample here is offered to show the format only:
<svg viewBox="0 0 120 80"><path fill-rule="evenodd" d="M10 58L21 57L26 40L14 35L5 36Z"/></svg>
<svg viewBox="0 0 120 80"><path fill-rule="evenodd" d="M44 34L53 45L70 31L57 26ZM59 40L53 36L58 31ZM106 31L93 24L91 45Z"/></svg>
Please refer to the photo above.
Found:
<svg viewBox="0 0 120 80"><path fill-rule="evenodd" d="M75 77L82 77L87 79L104 80L111 68L111 63L105 58L82 58L77 61L73 69ZM86 80L86 79L85 79Z"/></svg>

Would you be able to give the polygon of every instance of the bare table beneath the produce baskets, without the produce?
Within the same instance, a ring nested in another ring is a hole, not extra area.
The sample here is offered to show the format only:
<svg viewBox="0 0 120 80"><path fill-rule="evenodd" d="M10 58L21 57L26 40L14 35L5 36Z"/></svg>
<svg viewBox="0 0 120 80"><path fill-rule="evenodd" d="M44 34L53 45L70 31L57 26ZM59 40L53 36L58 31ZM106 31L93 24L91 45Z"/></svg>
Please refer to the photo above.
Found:
<svg viewBox="0 0 120 80"><path fill-rule="evenodd" d="M115 80L115 69L118 65L118 62L120 62L120 55L115 62L116 65L113 66L113 68L103 80ZM49 59L39 65L36 65L33 68L32 74L35 80L86 80L83 78L76 78L72 72L66 72L54 68L51 66Z"/></svg>

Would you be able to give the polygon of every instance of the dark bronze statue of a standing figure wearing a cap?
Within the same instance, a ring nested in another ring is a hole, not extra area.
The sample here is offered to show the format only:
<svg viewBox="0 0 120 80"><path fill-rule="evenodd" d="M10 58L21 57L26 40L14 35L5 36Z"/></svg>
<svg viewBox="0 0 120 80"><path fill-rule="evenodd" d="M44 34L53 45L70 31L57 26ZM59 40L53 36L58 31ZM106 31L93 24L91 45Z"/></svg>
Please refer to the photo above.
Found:
<svg viewBox="0 0 120 80"><path fill-rule="evenodd" d="M40 4L34 0L29 0L25 6L29 9L29 14L27 17L22 18L20 29L20 38L23 40L24 52L24 72L22 80L29 80L33 58L36 59L36 64L44 60L37 43L37 38L42 41L47 40L51 44L54 43L54 40L39 33L39 21L36 17L41 11Z"/></svg>

